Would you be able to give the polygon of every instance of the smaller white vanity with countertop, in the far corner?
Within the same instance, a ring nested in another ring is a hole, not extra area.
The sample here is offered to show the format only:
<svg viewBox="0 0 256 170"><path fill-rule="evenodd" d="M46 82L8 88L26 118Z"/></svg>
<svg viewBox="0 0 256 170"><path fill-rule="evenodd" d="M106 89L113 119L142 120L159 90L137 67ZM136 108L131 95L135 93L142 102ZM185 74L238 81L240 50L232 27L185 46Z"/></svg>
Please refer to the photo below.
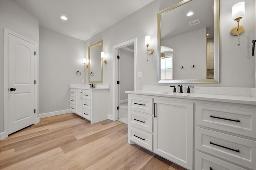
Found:
<svg viewBox="0 0 256 170"><path fill-rule="evenodd" d="M70 85L70 111L96 123L108 119L109 85Z"/></svg>

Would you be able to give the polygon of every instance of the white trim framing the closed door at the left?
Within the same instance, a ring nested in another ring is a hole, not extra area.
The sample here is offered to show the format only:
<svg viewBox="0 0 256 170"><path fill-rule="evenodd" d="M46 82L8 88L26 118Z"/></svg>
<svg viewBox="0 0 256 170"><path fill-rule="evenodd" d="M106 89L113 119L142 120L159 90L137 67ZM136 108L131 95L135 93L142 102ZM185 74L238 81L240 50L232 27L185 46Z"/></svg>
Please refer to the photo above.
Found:
<svg viewBox="0 0 256 170"><path fill-rule="evenodd" d="M30 42L32 44L35 45L35 50L36 50L36 58L35 58L35 80L36 80L36 85L35 85L35 109L36 109L36 114L37 117L34 120L34 123L39 123L38 121L38 113L39 113L39 99L38 99L38 43L24 37L21 36L20 34L17 34L16 32L13 32L11 30L8 30L7 28L4 28L4 132L0 133L0 140L7 138L8 137L8 81L9 81L9 77L8 77L8 34L12 34L13 36L16 36L18 38L21 38L27 42Z"/></svg>

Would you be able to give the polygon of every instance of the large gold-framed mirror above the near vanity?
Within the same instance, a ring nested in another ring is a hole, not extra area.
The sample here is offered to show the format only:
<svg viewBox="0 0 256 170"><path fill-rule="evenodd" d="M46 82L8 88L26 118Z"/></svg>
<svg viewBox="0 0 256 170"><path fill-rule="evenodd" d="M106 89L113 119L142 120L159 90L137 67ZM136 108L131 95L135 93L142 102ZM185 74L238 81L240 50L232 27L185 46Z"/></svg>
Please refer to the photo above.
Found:
<svg viewBox="0 0 256 170"><path fill-rule="evenodd" d="M158 12L158 83L219 82L219 4L182 0Z"/></svg>

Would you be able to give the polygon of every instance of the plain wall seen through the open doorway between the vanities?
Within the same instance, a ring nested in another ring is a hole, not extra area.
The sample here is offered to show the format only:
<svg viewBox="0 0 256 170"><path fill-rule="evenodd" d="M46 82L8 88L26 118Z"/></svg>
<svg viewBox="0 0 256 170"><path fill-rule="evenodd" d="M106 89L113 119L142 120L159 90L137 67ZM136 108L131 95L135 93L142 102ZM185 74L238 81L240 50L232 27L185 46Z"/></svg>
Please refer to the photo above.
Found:
<svg viewBox="0 0 256 170"><path fill-rule="evenodd" d="M127 100L128 93L134 90L134 52L120 49L120 100Z"/></svg>

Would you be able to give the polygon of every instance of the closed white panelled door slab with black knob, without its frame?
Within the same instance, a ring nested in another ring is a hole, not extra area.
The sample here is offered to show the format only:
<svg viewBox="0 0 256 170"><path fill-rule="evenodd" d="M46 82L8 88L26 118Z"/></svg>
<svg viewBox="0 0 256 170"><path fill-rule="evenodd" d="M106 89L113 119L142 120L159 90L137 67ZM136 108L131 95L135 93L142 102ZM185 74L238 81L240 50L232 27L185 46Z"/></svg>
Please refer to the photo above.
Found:
<svg viewBox="0 0 256 170"><path fill-rule="evenodd" d="M8 34L8 134L34 124L36 46Z"/></svg>

